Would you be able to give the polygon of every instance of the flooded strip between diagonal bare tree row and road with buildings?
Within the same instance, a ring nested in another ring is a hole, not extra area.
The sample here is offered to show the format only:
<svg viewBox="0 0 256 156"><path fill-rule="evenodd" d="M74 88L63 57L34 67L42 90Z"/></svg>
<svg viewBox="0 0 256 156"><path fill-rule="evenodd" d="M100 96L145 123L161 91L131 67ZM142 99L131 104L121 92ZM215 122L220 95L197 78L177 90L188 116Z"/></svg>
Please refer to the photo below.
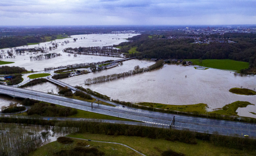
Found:
<svg viewBox="0 0 256 156"><path fill-rule="evenodd" d="M150 66L154 64L155 62L152 61L142 61L142 60L128 60L128 61L123 61L123 65L118 65L117 67L109 68L107 70L102 70L99 72L94 72L94 73L88 73L88 74L83 74L75 77L70 77L70 78L64 78L60 79L60 81L70 84L72 86L76 85L83 85L85 83L85 80L87 78L95 78L98 76L103 76L103 75L110 75L114 73L122 73L126 72L129 70L133 70L134 66L139 65L141 68Z"/></svg>

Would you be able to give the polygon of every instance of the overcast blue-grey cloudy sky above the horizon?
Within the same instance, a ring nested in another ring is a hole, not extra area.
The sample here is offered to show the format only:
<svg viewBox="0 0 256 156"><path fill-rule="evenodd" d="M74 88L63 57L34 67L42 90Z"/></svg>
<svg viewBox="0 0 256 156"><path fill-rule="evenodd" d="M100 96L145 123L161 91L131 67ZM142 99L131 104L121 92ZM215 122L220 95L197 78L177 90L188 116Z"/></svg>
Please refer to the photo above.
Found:
<svg viewBox="0 0 256 156"><path fill-rule="evenodd" d="M0 0L0 25L256 24L255 0Z"/></svg>

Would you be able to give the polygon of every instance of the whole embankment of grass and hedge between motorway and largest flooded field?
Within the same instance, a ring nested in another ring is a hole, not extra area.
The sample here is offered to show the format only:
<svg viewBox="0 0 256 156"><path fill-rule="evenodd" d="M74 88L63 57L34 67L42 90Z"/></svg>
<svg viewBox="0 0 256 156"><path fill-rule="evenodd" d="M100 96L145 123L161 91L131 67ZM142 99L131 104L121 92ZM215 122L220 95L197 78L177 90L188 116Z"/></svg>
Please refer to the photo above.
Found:
<svg viewBox="0 0 256 156"><path fill-rule="evenodd" d="M227 104L222 108L218 108L217 111L213 111L213 112L207 112L206 109L208 108L208 105L203 103L194 104L194 105L166 105L161 103L159 104L159 103L142 102L143 105L141 105L140 103L133 104L131 102L125 102L125 101L119 101L119 100L112 100L112 101L122 105L139 108L139 109L150 110L150 111L156 111L156 112L256 123L255 118L239 117L239 115L237 115L236 113L236 110L238 109L238 107L246 107L247 105L254 105L246 101L236 101L231 104ZM157 107L160 107L160 108L157 108ZM166 109L162 109L162 108L166 108Z"/></svg>

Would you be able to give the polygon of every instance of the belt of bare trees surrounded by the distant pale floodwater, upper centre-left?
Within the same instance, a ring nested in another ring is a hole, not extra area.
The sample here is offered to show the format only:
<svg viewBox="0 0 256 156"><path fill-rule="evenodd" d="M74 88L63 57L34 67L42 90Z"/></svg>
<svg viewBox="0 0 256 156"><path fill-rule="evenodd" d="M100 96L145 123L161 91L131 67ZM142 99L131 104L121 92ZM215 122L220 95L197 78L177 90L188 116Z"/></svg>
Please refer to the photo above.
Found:
<svg viewBox="0 0 256 156"><path fill-rule="evenodd" d="M79 48L65 48L64 52L71 52L77 54L87 54L87 55L103 55L103 56L121 56L122 53L119 49L113 48L113 46L94 46L94 47L79 47Z"/></svg>

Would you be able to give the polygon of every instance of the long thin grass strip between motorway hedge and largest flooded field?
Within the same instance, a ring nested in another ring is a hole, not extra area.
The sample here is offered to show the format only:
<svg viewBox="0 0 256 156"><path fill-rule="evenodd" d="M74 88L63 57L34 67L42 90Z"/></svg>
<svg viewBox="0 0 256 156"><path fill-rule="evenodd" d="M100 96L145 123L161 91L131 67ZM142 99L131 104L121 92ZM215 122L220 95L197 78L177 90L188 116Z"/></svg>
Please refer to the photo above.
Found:
<svg viewBox="0 0 256 156"><path fill-rule="evenodd" d="M138 103L142 106L160 108L160 109L167 109L172 111L180 111L180 112L198 112L198 113L206 113L206 108L208 107L207 104L199 103L194 105L166 105L161 103L149 103L149 102L141 102Z"/></svg>

